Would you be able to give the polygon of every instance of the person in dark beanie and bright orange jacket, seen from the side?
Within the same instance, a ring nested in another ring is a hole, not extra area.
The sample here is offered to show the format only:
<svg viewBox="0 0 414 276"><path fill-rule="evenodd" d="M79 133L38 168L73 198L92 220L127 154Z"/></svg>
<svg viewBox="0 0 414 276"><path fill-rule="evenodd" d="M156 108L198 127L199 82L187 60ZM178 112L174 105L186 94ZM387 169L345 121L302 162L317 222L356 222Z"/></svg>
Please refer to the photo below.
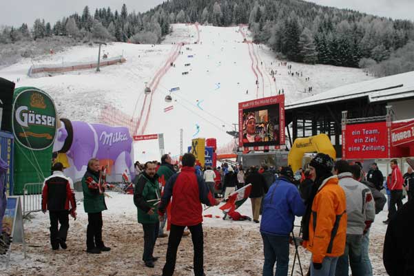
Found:
<svg viewBox="0 0 414 276"><path fill-rule="evenodd" d="M332 175L333 160L318 153L309 163L314 181L312 202L304 218L303 246L311 251L311 276L335 275L338 257L344 253L346 241L346 197Z"/></svg>

